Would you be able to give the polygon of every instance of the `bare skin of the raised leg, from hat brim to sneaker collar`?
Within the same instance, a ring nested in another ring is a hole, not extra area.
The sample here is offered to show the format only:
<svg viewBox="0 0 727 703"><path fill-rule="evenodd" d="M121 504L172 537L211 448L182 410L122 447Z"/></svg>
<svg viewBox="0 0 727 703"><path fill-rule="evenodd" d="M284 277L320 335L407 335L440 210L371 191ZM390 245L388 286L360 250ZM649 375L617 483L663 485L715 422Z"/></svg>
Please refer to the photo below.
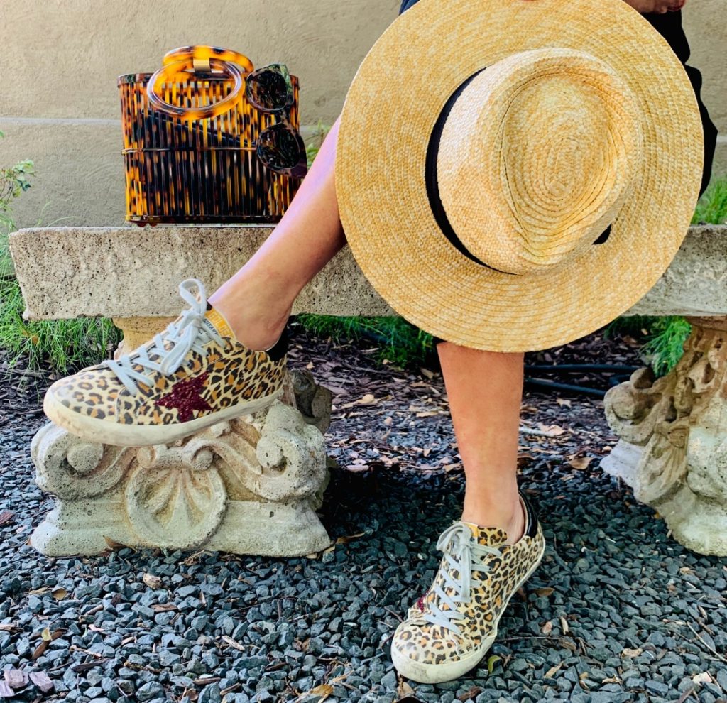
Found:
<svg viewBox="0 0 727 703"><path fill-rule="evenodd" d="M339 122L340 117L273 233L209 297L250 349L278 340L297 294L346 243L334 185Z"/></svg>

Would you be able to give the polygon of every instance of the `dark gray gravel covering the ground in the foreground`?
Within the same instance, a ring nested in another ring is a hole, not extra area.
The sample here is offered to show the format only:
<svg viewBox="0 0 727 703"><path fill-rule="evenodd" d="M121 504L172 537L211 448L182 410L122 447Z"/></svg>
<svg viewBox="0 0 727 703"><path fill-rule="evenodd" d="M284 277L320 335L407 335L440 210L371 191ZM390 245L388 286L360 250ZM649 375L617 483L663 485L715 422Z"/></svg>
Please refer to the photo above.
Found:
<svg viewBox="0 0 727 703"><path fill-rule="evenodd" d="M548 395L527 402L553 406ZM430 447L430 466L451 451L448 418L400 422L393 407L389 443ZM571 413L581 410L574 400ZM52 505L28 456L40 424L23 417L0 430L1 507L15 513L0 526L0 670L46 672L54 685L42 694L29 683L15 701L264 703L311 689L318 695L302 699L727 700L725 562L667 537L597 461L574 471L546 451L523 468L545 560L502 619L491 674L486 658L466 678L424 686L398 680L389 639L433 579L435 539L461 507L461 473L421 474L405 463L334 470L321 518L332 537L364 534L316 559L122 549L49 560L25 544ZM360 440L365 425L340 417L332 428L341 464L345 439ZM380 441L381 427L368 429ZM359 461L379 456L356 447ZM145 574L161 587L147 587ZM44 632L56 638L34 656Z"/></svg>

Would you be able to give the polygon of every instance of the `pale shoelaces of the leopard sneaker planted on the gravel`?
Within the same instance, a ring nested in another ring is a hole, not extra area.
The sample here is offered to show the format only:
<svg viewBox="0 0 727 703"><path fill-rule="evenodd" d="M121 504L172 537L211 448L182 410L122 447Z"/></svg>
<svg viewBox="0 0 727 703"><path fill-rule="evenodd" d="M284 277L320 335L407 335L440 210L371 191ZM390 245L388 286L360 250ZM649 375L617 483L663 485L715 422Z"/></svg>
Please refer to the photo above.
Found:
<svg viewBox="0 0 727 703"><path fill-rule="evenodd" d="M447 550L450 540L451 549ZM483 582L472 577L472 572L487 573L490 564L483 562L482 559L486 555L500 557L502 553L495 547L476 542L472 530L462 522L453 523L443 531L437 541L437 549L444 553L444 559L449 567L442 570L444 585L453 592L448 595L441 585L435 583L435 598L428 604L429 611L422 613L422 618L459 635L461 634L459 626L453 621L463 619L465 614L459 612L457 606L459 603L469 603L472 598L472 588L483 585ZM457 570L457 579L451 577L452 569ZM441 604L446 604L450 609L442 610Z"/></svg>

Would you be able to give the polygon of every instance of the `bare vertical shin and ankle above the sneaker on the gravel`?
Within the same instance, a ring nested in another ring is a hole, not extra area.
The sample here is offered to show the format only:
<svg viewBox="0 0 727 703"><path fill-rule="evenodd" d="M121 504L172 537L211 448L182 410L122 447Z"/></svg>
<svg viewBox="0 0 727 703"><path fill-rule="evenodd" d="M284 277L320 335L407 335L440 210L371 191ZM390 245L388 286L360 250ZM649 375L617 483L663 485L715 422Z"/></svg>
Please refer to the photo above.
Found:
<svg viewBox="0 0 727 703"><path fill-rule="evenodd" d="M451 342L437 350L465 467L462 520L503 528L513 544L525 527L517 483L524 354Z"/></svg>

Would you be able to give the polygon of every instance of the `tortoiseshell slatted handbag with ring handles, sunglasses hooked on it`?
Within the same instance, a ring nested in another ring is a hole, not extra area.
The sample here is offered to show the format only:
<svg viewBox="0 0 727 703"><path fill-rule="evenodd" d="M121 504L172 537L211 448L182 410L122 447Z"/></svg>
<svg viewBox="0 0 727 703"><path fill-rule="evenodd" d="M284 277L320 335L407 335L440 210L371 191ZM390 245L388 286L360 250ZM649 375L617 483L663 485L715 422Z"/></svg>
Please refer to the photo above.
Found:
<svg viewBox="0 0 727 703"><path fill-rule="evenodd" d="M307 172L299 81L284 65L180 47L117 85L127 222L280 220Z"/></svg>

